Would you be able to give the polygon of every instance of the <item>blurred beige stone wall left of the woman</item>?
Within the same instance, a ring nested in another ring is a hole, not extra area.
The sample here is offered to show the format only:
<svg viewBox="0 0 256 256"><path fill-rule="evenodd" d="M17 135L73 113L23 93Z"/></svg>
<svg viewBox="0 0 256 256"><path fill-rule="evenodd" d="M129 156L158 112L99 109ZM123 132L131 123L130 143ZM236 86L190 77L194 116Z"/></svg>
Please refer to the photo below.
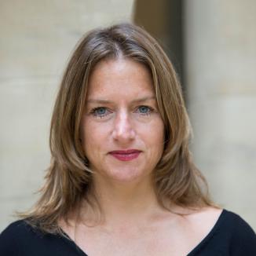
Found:
<svg viewBox="0 0 256 256"><path fill-rule="evenodd" d="M133 0L0 3L0 232L35 202L49 166L49 122L75 43L131 19Z"/></svg>

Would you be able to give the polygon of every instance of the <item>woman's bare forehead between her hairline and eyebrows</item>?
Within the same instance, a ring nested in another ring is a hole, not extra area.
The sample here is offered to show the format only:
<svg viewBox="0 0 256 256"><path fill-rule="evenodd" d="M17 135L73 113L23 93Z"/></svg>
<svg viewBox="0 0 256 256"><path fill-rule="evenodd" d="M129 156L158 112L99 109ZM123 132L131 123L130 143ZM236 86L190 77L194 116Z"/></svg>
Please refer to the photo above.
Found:
<svg viewBox="0 0 256 256"><path fill-rule="evenodd" d="M101 60L90 75L88 97L119 97L140 94L155 95L152 75L148 68L135 60L126 58Z"/></svg>

